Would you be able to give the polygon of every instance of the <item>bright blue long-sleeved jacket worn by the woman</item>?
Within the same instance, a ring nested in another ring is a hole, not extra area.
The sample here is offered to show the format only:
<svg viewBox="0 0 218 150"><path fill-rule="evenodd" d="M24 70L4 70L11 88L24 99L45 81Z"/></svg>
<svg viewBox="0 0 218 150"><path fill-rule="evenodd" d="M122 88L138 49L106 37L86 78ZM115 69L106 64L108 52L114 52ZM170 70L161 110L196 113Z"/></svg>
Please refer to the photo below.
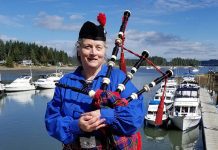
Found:
<svg viewBox="0 0 218 150"><path fill-rule="evenodd" d="M78 67L73 73L64 75L59 81L68 86L83 88L85 79L81 75L82 67ZM107 72L107 66L103 65L101 71L95 77L90 89L98 90L102 84L102 78ZM108 90L115 91L118 84L122 83L126 75L119 69L112 69ZM136 87L129 81L126 89L120 94L127 98L136 92ZM70 89L55 88L53 99L48 102L45 114L45 124L49 135L68 144L76 140L82 134L78 126L80 115L84 112L93 111L92 98ZM115 133L131 135L141 127L145 116L143 97L131 101L128 106L117 106L115 108L101 108L101 117Z"/></svg>

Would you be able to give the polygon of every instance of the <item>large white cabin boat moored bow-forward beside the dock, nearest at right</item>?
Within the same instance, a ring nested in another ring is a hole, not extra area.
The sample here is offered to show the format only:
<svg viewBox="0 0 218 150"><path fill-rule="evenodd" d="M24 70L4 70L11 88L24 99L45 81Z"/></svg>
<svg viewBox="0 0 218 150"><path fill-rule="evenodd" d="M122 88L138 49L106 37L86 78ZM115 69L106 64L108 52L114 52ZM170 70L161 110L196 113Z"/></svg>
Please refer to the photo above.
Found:
<svg viewBox="0 0 218 150"><path fill-rule="evenodd" d="M195 127L201 120L199 89L182 87L175 93L170 119L181 130Z"/></svg>

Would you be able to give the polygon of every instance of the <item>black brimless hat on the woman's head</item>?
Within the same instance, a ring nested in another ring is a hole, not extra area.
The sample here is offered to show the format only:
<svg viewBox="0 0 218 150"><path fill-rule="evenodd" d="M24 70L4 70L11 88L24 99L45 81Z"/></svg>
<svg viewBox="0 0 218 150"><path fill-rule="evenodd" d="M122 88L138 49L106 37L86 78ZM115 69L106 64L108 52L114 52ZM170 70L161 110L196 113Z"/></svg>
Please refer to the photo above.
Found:
<svg viewBox="0 0 218 150"><path fill-rule="evenodd" d="M99 18L99 16L98 16L98 18ZM92 40L106 41L106 33L104 30L106 18L104 18L104 19L105 19L104 24L102 24L98 19L100 25L96 25L90 21L85 22L80 29L79 39L86 38L86 39L92 39Z"/></svg>

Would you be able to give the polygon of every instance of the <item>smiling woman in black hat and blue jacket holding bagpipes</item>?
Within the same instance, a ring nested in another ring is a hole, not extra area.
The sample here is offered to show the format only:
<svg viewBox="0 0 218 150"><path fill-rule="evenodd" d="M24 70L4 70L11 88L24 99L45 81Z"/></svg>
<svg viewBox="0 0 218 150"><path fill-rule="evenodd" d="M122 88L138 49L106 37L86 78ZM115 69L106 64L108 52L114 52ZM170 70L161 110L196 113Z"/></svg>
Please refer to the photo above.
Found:
<svg viewBox="0 0 218 150"><path fill-rule="evenodd" d="M103 26L89 21L84 23L79 32L76 48L81 65L73 73L66 74L59 83L87 91L100 89L102 78L107 72L107 66L104 64L106 36ZM113 69L107 90L115 91L124 78L125 74L121 70ZM135 86L129 81L120 96L126 98L136 91ZM92 98L82 93L56 87L45 115L49 135L61 141L65 150L118 147L136 149L134 143L130 143L131 146L125 142L114 144L111 135L131 137L141 127L145 115L143 97L140 96L128 106L114 108L96 109L92 101ZM119 144L122 146L118 146Z"/></svg>

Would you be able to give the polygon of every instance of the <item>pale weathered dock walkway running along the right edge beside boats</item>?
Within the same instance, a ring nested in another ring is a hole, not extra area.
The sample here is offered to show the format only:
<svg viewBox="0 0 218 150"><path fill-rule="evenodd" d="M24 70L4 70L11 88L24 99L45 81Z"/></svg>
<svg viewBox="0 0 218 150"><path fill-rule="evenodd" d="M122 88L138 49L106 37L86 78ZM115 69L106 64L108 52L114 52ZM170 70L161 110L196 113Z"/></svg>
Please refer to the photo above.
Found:
<svg viewBox="0 0 218 150"><path fill-rule="evenodd" d="M200 89L202 107L203 142L206 150L218 148L218 108L214 104L207 89Z"/></svg>

